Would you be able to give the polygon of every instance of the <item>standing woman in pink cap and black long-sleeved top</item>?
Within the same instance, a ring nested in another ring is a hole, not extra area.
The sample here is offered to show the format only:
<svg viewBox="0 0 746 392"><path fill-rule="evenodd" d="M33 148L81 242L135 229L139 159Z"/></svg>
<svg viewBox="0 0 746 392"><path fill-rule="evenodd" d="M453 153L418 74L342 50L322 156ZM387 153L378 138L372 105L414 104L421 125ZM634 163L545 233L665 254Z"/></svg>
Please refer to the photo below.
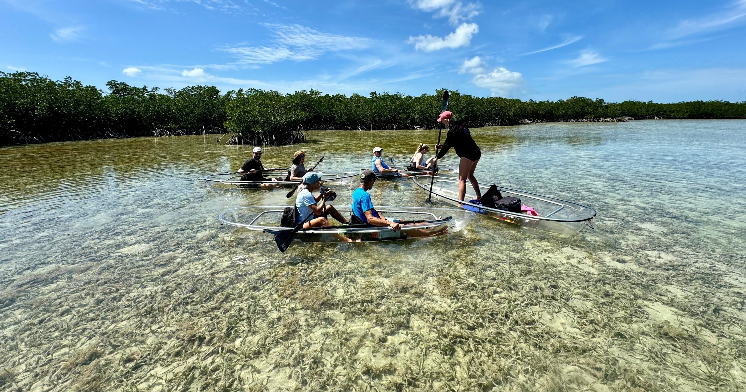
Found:
<svg viewBox="0 0 746 392"><path fill-rule="evenodd" d="M443 124L446 127L450 127L450 129L448 129L448 133L445 136L445 142L443 142L442 145L436 146L436 148L442 148L442 150L438 152L435 159L436 162L438 159L441 159L445 153L451 149L451 147L453 147L454 151L456 151L456 155L461 158L461 161L459 162L459 200L463 201L464 196L466 195L467 178L471 183L471 186L474 187L474 192L477 195L476 199L479 200L482 198L482 192L479 189L477 179L474 178L474 169L477 168L477 163L479 163L479 159L482 157L482 151L479 149L477 142L474 142L474 139L471 139L471 132L469 132L468 128L464 126L464 122L457 122L454 119L453 113L448 110L440 113L438 121L443 121ZM454 122L455 124L451 126L451 122Z"/></svg>

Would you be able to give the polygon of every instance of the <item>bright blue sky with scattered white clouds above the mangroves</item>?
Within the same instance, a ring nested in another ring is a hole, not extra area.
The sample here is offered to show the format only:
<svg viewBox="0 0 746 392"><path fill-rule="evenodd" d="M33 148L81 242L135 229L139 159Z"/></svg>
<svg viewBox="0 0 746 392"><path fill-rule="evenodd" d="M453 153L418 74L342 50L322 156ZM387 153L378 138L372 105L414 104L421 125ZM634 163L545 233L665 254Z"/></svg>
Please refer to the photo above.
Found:
<svg viewBox="0 0 746 392"><path fill-rule="evenodd" d="M0 35L101 89L746 101L746 0L0 0Z"/></svg>

